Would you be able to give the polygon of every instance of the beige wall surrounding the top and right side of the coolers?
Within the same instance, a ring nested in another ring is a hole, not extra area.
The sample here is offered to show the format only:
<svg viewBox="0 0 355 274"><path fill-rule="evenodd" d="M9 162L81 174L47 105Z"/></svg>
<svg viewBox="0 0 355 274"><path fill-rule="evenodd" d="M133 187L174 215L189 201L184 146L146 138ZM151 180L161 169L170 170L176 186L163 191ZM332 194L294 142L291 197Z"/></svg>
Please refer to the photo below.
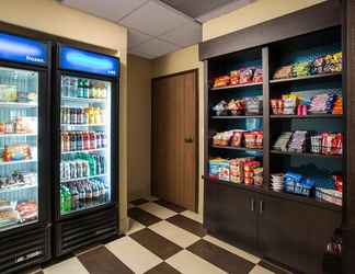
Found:
<svg viewBox="0 0 355 274"><path fill-rule="evenodd" d="M117 50L122 61L119 105L121 229L127 227L127 30L55 0L1 0L0 20ZM117 182L118 184L118 182Z"/></svg>

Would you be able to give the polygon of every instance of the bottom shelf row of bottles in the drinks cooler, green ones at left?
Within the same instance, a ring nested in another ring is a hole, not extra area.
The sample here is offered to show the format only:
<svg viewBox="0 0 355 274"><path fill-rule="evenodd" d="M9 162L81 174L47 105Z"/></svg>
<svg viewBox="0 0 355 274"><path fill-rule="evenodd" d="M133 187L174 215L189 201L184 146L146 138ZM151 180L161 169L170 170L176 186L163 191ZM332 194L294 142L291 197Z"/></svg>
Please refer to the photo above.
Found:
<svg viewBox="0 0 355 274"><path fill-rule="evenodd" d="M110 202L110 187L104 180L81 180L60 185L60 210L68 213Z"/></svg>

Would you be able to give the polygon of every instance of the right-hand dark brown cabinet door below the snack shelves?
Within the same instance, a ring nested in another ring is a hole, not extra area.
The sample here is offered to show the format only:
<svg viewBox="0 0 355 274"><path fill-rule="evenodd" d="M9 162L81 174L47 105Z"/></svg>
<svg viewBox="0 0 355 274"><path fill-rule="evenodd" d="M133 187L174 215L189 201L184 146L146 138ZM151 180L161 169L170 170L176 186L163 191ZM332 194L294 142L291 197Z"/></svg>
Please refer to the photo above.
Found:
<svg viewBox="0 0 355 274"><path fill-rule="evenodd" d="M327 242L341 225L341 212L263 195L260 203L263 255L305 273L322 273Z"/></svg>

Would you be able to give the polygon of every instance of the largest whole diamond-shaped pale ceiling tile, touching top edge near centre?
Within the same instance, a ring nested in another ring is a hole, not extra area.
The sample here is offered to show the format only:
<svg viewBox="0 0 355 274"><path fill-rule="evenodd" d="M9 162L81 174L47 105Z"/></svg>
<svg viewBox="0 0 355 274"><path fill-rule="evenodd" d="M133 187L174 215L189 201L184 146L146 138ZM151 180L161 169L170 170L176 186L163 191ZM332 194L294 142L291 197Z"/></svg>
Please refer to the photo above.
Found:
<svg viewBox="0 0 355 274"><path fill-rule="evenodd" d="M128 16L119 21L127 27L134 27L142 33L159 36L170 30L191 22L180 12L156 1L149 1Z"/></svg>

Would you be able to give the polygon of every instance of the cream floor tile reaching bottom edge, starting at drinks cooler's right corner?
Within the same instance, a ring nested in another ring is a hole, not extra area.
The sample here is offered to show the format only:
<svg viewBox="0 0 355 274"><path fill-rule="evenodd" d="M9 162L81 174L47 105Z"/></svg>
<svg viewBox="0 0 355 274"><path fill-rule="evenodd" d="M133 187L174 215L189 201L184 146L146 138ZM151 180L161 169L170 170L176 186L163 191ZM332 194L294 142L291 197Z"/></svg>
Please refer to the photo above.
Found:
<svg viewBox="0 0 355 274"><path fill-rule="evenodd" d="M110 242L106 248L137 274L145 273L162 262L159 256L129 237Z"/></svg>

